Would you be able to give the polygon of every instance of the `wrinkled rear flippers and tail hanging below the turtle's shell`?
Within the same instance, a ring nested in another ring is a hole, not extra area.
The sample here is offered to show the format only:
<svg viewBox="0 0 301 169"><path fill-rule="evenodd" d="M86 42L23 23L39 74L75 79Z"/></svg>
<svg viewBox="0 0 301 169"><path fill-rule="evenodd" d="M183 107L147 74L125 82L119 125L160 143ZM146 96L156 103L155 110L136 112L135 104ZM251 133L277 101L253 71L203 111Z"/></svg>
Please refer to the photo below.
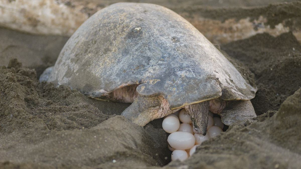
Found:
<svg viewBox="0 0 301 169"><path fill-rule="evenodd" d="M191 117L194 133L203 135L206 135L207 131L209 110L219 114L222 122L226 125L256 117L250 100L225 101L217 98L186 105L185 109ZM154 119L162 118L178 110L179 109L169 109L167 100L162 96L138 96L121 115L143 127Z"/></svg>

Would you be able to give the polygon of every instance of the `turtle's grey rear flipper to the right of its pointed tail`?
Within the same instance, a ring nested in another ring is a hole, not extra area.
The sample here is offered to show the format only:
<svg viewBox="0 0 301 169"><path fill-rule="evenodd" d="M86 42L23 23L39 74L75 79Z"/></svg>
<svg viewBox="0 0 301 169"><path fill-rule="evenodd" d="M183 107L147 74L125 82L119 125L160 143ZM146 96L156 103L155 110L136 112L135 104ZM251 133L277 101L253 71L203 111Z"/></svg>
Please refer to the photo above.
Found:
<svg viewBox="0 0 301 169"><path fill-rule="evenodd" d="M226 125L256 117L250 100L228 101L226 108L220 115L222 122Z"/></svg>

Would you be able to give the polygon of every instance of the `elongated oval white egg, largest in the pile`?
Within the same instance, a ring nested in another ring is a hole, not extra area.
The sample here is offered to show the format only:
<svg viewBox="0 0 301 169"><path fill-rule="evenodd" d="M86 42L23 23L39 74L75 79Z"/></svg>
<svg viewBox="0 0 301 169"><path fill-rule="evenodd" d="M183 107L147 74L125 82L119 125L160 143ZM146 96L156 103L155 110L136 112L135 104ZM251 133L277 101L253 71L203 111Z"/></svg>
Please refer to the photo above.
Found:
<svg viewBox="0 0 301 169"><path fill-rule="evenodd" d="M169 134L167 142L174 149L186 150L194 146L195 137L185 131L176 131Z"/></svg>

